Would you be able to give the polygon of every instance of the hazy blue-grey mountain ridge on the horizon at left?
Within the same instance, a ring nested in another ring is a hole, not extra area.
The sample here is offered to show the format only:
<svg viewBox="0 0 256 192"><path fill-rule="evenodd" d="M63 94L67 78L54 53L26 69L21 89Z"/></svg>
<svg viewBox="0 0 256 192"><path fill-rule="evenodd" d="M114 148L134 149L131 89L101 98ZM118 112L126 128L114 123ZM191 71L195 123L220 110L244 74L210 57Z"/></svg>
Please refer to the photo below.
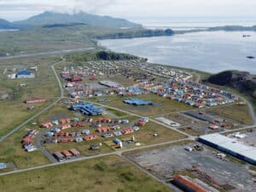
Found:
<svg viewBox="0 0 256 192"><path fill-rule="evenodd" d="M45 26L54 24L70 24L70 23L84 23L90 26L108 26L108 27L142 27L137 23L132 23L128 20L113 18L109 16L90 15L84 12L78 14L60 14L46 11L43 14L32 16L27 20L20 20L13 22L13 25L20 28L30 26Z"/></svg>

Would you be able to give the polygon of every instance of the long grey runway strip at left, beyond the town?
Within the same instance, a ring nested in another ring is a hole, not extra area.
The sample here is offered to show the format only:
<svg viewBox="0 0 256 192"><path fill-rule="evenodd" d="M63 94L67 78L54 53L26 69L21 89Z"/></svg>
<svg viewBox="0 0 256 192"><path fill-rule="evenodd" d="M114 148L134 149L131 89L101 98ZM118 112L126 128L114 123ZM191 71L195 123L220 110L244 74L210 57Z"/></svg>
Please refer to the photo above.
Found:
<svg viewBox="0 0 256 192"><path fill-rule="evenodd" d="M61 55L61 54L67 54L67 53L72 53L72 52L83 52L83 51L92 50L92 49L95 49L95 48L90 47L90 48L80 48L80 49L55 50L55 51L36 53L36 54L3 56L3 57L0 57L0 61L11 60L11 59L20 59L20 58L33 57L33 56L43 56L43 55Z"/></svg>

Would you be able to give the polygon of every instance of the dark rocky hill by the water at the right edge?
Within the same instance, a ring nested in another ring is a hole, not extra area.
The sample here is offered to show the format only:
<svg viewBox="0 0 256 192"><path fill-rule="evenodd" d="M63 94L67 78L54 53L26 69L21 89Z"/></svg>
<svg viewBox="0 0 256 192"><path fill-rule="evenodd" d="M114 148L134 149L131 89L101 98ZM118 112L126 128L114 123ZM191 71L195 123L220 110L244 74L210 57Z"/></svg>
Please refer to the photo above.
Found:
<svg viewBox="0 0 256 192"><path fill-rule="evenodd" d="M256 75L241 71L224 71L204 80L211 84L218 84L235 88L241 93L256 98Z"/></svg>

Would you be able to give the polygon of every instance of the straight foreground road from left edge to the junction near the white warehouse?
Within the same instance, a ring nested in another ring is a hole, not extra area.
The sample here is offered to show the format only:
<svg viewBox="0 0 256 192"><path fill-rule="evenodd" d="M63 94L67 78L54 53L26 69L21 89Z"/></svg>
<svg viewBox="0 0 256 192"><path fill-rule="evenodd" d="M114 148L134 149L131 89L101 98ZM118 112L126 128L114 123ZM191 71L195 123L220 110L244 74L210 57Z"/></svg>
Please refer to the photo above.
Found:
<svg viewBox="0 0 256 192"><path fill-rule="evenodd" d="M187 138L184 138L184 139L179 139L179 140L170 141L170 142L155 143L155 144L151 144L151 145L147 145L147 146L140 146L140 147L137 147L137 148L128 148L128 149L125 149L123 151L113 151L113 152L110 152L110 153L107 153L107 154L96 154L94 156L84 156L84 157L80 157L80 158L77 158L77 159L67 160L67 161L62 161L62 162L56 162L56 163L47 164L47 165L44 165L44 166L33 166L33 167L30 167L30 168L15 170L15 171L12 171L12 172L3 172L3 173L0 173L0 176L14 174L14 173L18 173L18 172L27 172L27 171L42 169L42 168L50 167L50 166L63 165L63 164L72 163L72 162L76 162L76 161L80 161L80 160L90 160L90 159L103 157L103 156L107 156L107 155L111 155L111 154L120 155L122 153L132 151L132 150L136 150L136 149L154 148L154 147L158 147L158 146L161 146L161 145L172 144L172 143L183 142L183 141L190 141L190 140L187 139Z"/></svg>

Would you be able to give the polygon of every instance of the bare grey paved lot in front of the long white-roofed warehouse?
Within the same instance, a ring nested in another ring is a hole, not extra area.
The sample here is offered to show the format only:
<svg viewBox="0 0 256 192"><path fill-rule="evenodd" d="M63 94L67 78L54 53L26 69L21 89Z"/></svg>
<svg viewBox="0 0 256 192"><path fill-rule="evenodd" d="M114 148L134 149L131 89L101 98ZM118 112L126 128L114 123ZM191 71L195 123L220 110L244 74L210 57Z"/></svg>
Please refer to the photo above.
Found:
<svg viewBox="0 0 256 192"><path fill-rule="evenodd" d="M218 159L216 152L205 146L203 151L187 151L184 149L187 146L154 149L131 154L129 158L162 179L168 179L177 172L193 174L191 170L196 167L201 175L211 177L212 183L218 183L220 186L229 185L231 190L226 191L256 191L255 181L246 166Z"/></svg>

